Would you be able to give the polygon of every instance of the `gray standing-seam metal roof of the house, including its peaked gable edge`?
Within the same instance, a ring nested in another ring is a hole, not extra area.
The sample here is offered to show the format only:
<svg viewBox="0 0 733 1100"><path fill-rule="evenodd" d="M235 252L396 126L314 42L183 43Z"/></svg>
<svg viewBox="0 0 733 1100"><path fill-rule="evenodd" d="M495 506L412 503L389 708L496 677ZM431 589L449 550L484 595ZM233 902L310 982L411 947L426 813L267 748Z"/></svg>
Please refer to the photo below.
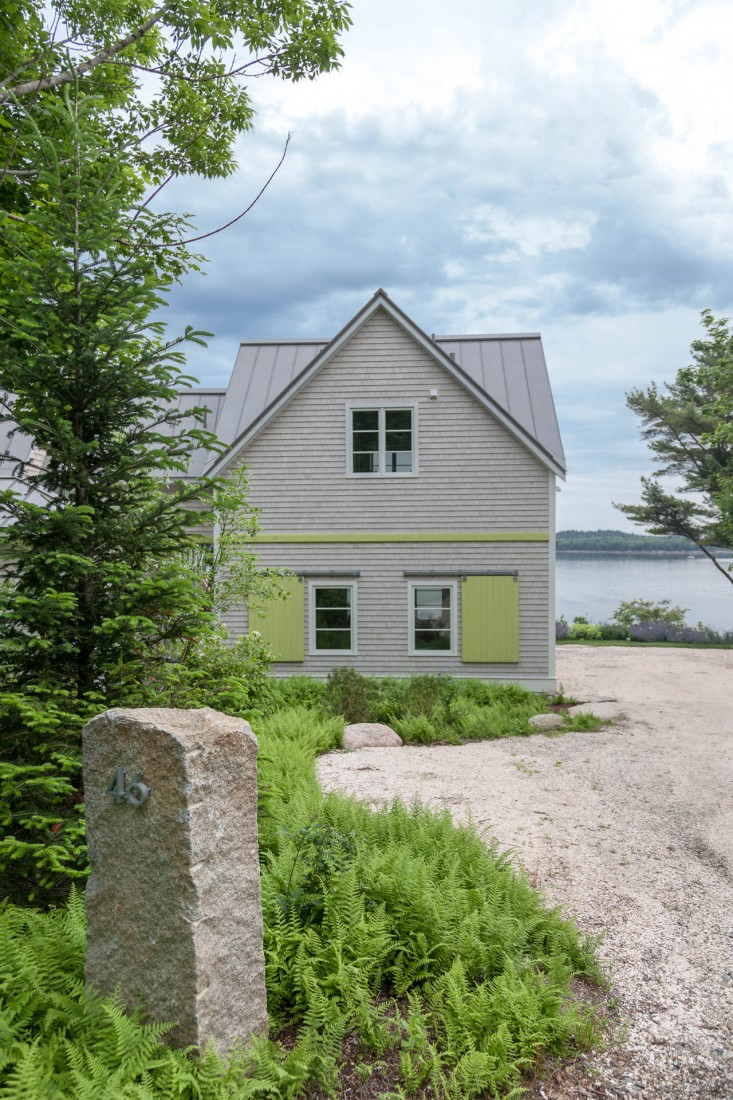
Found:
<svg viewBox="0 0 733 1100"><path fill-rule="evenodd" d="M332 340L243 341L215 430L219 474L361 326L383 309L560 477L566 464L539 333L428 337L378 290Z"/></svg>

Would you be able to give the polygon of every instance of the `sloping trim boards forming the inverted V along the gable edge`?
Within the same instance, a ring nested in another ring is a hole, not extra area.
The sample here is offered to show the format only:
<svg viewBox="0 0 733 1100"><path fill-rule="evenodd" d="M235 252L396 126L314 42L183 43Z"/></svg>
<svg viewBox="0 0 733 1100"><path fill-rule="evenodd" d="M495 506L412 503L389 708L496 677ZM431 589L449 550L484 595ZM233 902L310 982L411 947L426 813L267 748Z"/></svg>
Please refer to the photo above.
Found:
<svg viewBox="0 0 733 1100"><path fill-rule="evenodd" d="M547 466L553 473L557 474L558 477L565 481L565 470L562 466L556 462L549 454L547 454L541 448L539 448L534 440L521 428L503 409L496 405L496 403L489 397L489 395L477 386L471 378L463 371L460 370L457 363L453 363L452 359L438 348L436 343L430 340L422 329L403 314L394 302L386 296L384 290L378 290L376 294L371 298L366 305L359 310L359 312L352 318L351 321L341 329L341 331L333 338L333 340L324 348L319 355L313 360L311 363L294 378L289 386L287 386L283 393L277 397L272 405L270 405L263 413L260 414L258 419L252 424L245 431L239 436L228 451L220 455L219 459L209 468L206 472L208 477L218 477L231 462L236 462L241 452L244 450L249 443L259 436L263 428L265 428L270 421L277 416L280 410L284 408L285 405L292 400L297 393L303 389L303 387L310 382L313 376L329 362L336 355L346 343L351 340L354 333L364 324L365 321L372 317L378 309L383 309L390 317L397 323L402 329L405 330L417 343L428 352L437 363L440 364L449 374L456 378L468 392L475 397L475 399L489 409L489 411L496 417L496 419L502 424L507 431L510 431L516 439L523 443L528 451L530 451L543 465Z"/></svg>

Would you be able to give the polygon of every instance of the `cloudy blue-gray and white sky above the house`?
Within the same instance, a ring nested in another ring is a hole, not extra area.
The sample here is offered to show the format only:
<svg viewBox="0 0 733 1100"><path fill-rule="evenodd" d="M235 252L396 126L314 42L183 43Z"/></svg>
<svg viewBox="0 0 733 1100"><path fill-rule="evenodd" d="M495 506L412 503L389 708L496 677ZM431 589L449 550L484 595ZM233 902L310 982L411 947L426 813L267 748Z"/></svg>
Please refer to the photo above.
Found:
<svg viewBox="0 0 733 1100"><path fill-rule="evenodd" d="M331 337L378 287L428 332L540 331L568 457L560 529L632 529L624 394L733 314L733 6L354 0L341 70L256 81L240 172L168 205L206 242L173 327L226 385L241 339Z"/></svg>

